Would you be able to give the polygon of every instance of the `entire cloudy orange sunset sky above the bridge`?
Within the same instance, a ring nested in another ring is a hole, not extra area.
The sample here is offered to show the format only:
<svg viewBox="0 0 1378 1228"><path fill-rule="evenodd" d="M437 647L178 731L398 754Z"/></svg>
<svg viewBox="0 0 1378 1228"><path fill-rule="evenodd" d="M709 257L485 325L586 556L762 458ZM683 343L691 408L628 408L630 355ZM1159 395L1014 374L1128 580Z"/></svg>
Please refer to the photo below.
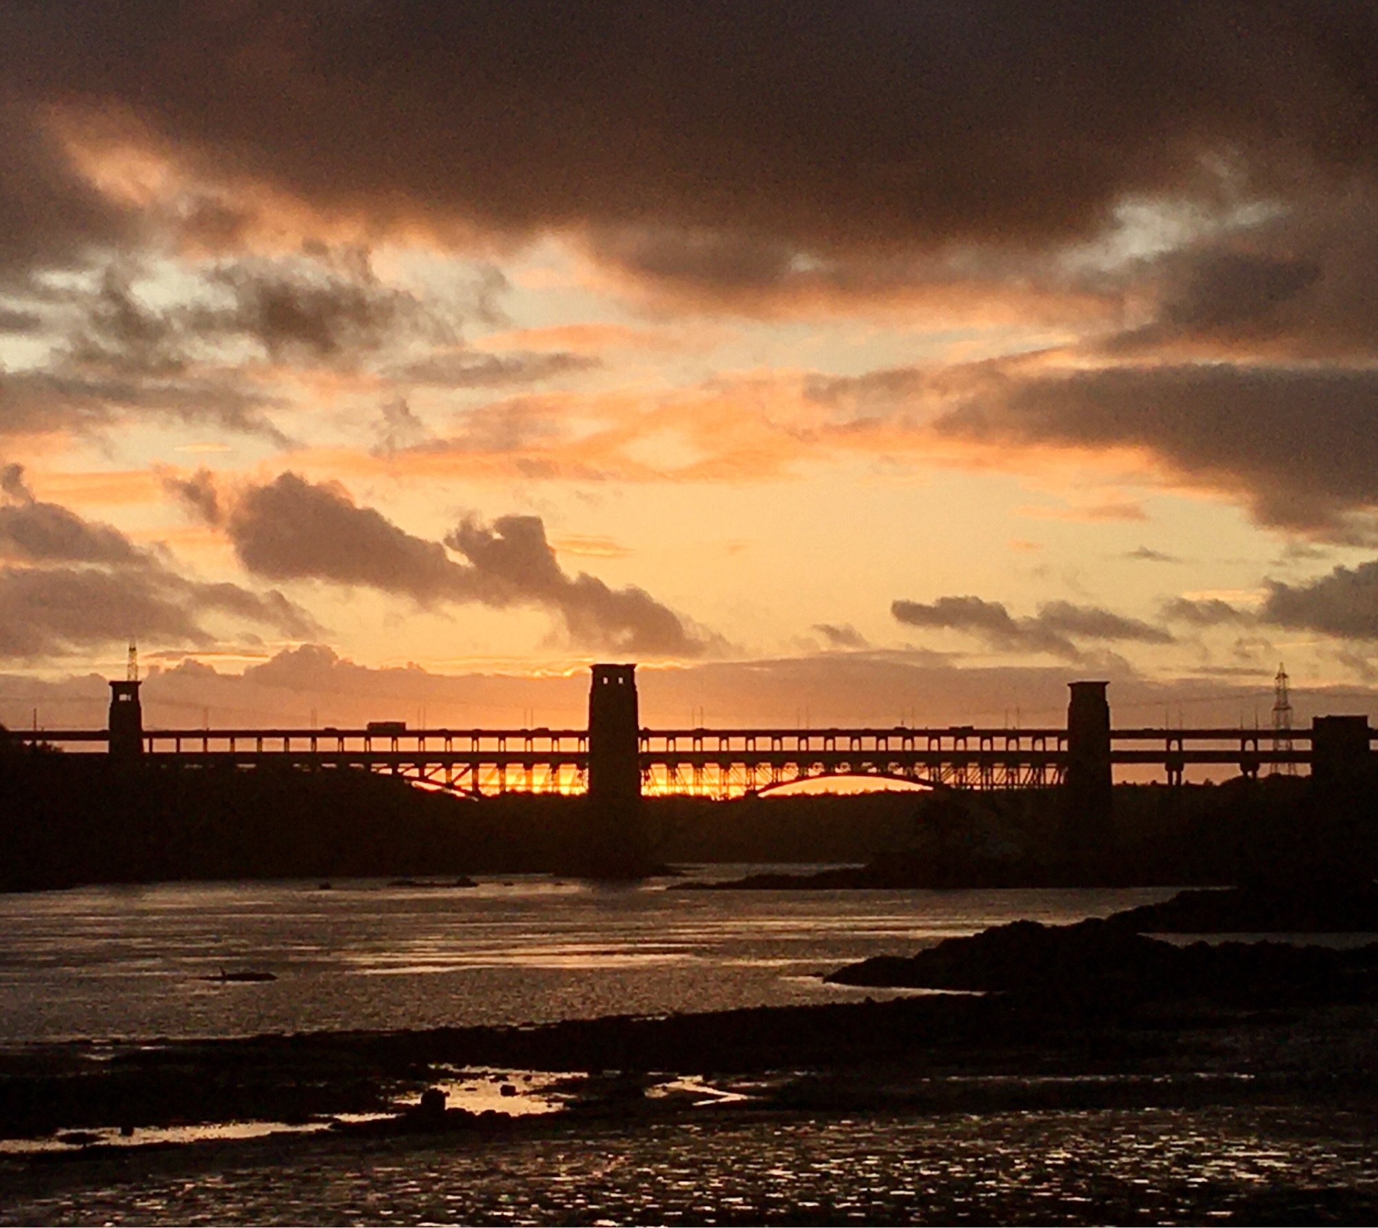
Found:
<svg viewBox="0 0 1378 1228"><path fill-rule="evenodd" d="M1130 11L1120 11L1122 8ZM1378 712L1378 6L0 0L0 719Z"/></svg>

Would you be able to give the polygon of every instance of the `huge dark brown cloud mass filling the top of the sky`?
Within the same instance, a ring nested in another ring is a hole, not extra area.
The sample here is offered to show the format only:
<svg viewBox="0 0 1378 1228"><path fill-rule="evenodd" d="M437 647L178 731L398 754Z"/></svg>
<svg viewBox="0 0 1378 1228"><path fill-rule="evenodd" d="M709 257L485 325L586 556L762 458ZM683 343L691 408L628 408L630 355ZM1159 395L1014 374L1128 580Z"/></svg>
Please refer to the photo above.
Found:
<svg viewBox="0 0 1378 1228"><path fill-rule="evenodd" d="M1375 45L1371 6L1284 0L11 6L4 180L34 183L7 201L19 251L114 233L37 147L44 106L87 107L375 224L671 224L751 278L781 251L1084 233L1203 189L1211 154L1264 189L1367 175Z"/></svg>

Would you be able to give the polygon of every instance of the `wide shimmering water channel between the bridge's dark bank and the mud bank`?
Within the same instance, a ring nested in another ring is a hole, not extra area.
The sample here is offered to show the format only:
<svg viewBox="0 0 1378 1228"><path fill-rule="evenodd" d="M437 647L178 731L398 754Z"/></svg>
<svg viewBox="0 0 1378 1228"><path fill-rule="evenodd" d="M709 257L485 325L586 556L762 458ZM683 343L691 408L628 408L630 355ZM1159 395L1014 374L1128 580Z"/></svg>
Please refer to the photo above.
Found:
<svg viewBox="0 0 1378 1228"><path fill-rule="evenodd" d="M0 1044L847 1001L858 991L819 973L1006 921L1072 922L1173 893L667 889L752 869L627 887L532 876L474 888L176 882L0 896ZM222 971L276 979L223 983Z"/></svg>

